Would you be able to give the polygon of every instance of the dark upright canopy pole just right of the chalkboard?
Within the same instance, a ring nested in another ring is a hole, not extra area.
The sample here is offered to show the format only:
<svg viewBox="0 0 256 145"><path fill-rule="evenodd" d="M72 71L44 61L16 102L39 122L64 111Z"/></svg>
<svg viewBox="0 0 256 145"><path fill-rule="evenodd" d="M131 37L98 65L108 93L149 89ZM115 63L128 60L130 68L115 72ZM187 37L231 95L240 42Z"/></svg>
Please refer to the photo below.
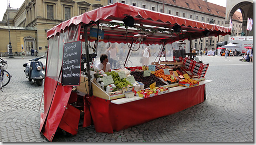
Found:
<svg viewBox="0 0 256 145"><path fill-rule="evenodd" d="M87 26L84 26L84 43L85 43L85 53L86 53L86 68L87 68L87 77L88 77L88 88L89 88L89 96L92 96L92 82L90 76L90 55L89 55L89 47L88 47L88 36L87 36Z"/></svg>

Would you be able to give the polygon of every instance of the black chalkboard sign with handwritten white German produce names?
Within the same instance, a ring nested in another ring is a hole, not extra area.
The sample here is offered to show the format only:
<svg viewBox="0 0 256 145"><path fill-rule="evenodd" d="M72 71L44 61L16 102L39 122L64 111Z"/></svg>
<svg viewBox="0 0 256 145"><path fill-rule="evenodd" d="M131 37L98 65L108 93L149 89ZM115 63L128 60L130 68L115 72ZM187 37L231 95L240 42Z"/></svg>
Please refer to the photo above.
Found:
<svg viewBox="0 0 256 145"><path fill-rule="evenodd" d="M62 85L79 86L82 42L65 43L62 60Z"/></svg>

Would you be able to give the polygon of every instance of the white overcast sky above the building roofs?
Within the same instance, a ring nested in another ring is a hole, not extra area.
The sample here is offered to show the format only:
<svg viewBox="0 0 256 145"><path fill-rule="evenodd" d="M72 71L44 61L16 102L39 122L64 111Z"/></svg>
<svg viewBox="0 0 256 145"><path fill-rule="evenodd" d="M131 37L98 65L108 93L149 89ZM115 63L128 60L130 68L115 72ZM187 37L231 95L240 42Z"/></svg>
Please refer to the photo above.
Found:
<svg viewBox="0 0 256 145"><path fill-rule="evenodd" d="M23 4L24 0L0 0L2 3L0 5L0 21L3 20L4 13L7 9L8 3L13 8L19 8ZM185 1L185 0L181 0ZM253 0L256 1L256 0ZM209 3L217 4L226 7L226 0L208 0Z"/></svg>

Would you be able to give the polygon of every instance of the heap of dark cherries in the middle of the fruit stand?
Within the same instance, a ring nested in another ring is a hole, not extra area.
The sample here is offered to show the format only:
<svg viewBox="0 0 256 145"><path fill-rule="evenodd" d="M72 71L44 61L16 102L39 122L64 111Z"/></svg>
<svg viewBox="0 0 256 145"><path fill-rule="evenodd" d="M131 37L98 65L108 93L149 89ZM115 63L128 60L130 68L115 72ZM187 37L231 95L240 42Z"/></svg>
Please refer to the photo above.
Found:
<svg viewBox="0 0 256 145"><path fill-rule="evenodd" d="M143 71L132 71L131 75L133 75L136 81L142 82L145 85L145 88L149 88L151 84L156 82L156 86L166 85L165 82L158 79L155 75L150 74L149 77L143 77Z"/></svg>

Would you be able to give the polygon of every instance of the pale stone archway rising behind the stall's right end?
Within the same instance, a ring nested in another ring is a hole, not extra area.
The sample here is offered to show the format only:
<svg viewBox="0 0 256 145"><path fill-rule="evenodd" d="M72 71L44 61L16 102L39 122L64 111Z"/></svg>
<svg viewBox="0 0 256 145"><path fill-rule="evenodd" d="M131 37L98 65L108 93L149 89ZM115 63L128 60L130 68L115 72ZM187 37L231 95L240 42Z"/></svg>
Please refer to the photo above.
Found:
<svg viewBox="0 0 256 145"><path fill-rule="evenodd" d="M242 30L244 33L247 33L247 36L252 36L253 35L253 30L251 32L247 32L247 18L253 18L253 1L248 0L248 1L241 1L241 0L227 0L227 7L226 7L226 16L225 16L225 24L227 27L229 27L229 20L237 11L237 9L240 9L243 17L243 26Z"/></svg>

